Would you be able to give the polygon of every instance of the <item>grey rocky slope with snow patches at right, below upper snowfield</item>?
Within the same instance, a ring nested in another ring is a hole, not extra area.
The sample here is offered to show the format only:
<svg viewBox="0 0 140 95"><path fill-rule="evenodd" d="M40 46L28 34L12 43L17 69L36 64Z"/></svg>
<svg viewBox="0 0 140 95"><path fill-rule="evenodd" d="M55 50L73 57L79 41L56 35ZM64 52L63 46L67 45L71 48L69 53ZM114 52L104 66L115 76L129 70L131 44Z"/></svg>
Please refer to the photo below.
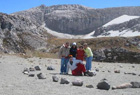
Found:
<svg viewBox="0 0 140 95"><path fill-rule="evenodd" d="M140 17L118 24L104 25L95 30L95 37L138 36L140 35Z"/></svg>

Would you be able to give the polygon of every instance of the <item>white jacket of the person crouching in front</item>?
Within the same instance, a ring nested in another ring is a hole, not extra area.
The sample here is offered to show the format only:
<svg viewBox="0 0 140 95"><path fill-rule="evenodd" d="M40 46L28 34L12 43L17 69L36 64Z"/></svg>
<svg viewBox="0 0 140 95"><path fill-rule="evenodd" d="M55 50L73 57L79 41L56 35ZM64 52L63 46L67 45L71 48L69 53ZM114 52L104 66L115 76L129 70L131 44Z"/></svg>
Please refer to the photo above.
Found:
<svg viewBox="0 0 140 95"><path fill-rule="evenodd" d="M83 64L83 61L74 59L72 65L70 64L70 61L69 61L68 64L67 64L67 71L66 71L66 73L69 72L69 68L70 68L72 71L75 70L75 69L77 68L77 64L78 64L78 63Z"/></svg>

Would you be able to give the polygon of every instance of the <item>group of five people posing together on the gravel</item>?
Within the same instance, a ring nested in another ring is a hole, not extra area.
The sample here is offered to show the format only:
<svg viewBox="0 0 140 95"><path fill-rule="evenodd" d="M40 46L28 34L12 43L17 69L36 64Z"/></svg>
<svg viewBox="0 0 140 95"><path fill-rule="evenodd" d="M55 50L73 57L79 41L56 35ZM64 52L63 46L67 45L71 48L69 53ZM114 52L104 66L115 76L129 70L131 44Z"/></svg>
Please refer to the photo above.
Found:
<svg viewBox="0 0 140 95"><path fill-rule="evenodd" d="M66 42L59 50L59 58L61 58L60 74L68 74L71 69L72 75L81 76L91 70L93 53L87 43L77 47L74 42L70 47L70 43ZM84 59L86 65L83 64Z"/></svg>

